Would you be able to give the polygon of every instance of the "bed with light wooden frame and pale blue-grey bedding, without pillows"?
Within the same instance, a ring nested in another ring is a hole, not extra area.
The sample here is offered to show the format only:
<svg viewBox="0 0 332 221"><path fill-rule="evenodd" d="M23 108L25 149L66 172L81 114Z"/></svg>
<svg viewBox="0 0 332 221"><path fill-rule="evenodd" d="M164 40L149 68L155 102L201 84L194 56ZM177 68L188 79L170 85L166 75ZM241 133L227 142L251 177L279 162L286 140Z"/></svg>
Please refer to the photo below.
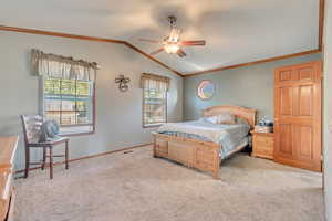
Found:
<svg viewBox="0 0 332 221"><path fill-rule="evenodd" d="M236 124L216 125L205 118L231 114ZM154 157L167 158L219 178L221 160L242 150L253 128L256 109L239 106L212 106L195 122L168 123L153 133Z"/></svg>

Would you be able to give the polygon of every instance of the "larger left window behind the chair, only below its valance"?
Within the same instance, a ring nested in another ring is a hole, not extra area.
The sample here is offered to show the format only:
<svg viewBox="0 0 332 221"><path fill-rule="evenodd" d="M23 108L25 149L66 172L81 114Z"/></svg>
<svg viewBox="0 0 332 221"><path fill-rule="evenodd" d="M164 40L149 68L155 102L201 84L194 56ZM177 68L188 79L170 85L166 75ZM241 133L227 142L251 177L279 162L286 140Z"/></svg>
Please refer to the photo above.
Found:
<svg viewBox="0 0 332 221"><path fill-rule="evenodd" d="M58 122L61 134L94 130L93 81L45 77L43 94L44 117Z"/></svg>

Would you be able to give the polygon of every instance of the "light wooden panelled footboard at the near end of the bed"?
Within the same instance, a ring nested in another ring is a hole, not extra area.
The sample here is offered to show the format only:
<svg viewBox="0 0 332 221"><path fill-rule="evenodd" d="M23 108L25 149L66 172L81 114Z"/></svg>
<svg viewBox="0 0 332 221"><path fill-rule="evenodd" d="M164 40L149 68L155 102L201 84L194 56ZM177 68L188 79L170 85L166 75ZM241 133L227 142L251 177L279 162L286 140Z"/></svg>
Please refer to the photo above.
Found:
<svg viewBox="0 0 332 221"><path fill-rule="evenodd" d="M219 178L219 145L177 136L153 133L154 157L163 157L203 171L209 171Z"/></svg>

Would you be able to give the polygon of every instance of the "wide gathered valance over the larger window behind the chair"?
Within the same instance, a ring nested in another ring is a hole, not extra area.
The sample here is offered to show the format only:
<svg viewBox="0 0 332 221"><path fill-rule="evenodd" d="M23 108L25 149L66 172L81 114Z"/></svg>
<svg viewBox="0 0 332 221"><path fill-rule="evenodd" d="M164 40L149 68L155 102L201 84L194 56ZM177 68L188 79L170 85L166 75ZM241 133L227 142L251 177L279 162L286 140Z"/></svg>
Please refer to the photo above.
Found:
<svg viewBox="0 0 332 221"><path fill-rule="evenodd" d="M55 54L45 54L33 49L31 51L32 74L37 76L48 76L55 78L94 81L97 63L73 60Z"/></svg>

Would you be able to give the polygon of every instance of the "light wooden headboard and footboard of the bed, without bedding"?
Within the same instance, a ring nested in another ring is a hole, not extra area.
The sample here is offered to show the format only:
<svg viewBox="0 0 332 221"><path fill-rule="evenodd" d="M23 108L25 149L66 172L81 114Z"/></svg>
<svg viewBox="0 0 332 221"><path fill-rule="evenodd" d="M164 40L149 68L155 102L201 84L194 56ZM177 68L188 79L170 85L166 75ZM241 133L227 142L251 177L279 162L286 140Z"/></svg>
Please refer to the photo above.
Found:
<svg viewBox="0 0 332 221"><path fill-rule="evenodd" d="M255 126L256 109L239 106L212 106L203 110L203 116L214 116L230 113L236 117L246 119L251 128ZM221 160L219 158L219 145L212 141L200 141L177 136L153 133L154 157L167 158L180 162L187 167L212 173L219 178Z"/></svg>

